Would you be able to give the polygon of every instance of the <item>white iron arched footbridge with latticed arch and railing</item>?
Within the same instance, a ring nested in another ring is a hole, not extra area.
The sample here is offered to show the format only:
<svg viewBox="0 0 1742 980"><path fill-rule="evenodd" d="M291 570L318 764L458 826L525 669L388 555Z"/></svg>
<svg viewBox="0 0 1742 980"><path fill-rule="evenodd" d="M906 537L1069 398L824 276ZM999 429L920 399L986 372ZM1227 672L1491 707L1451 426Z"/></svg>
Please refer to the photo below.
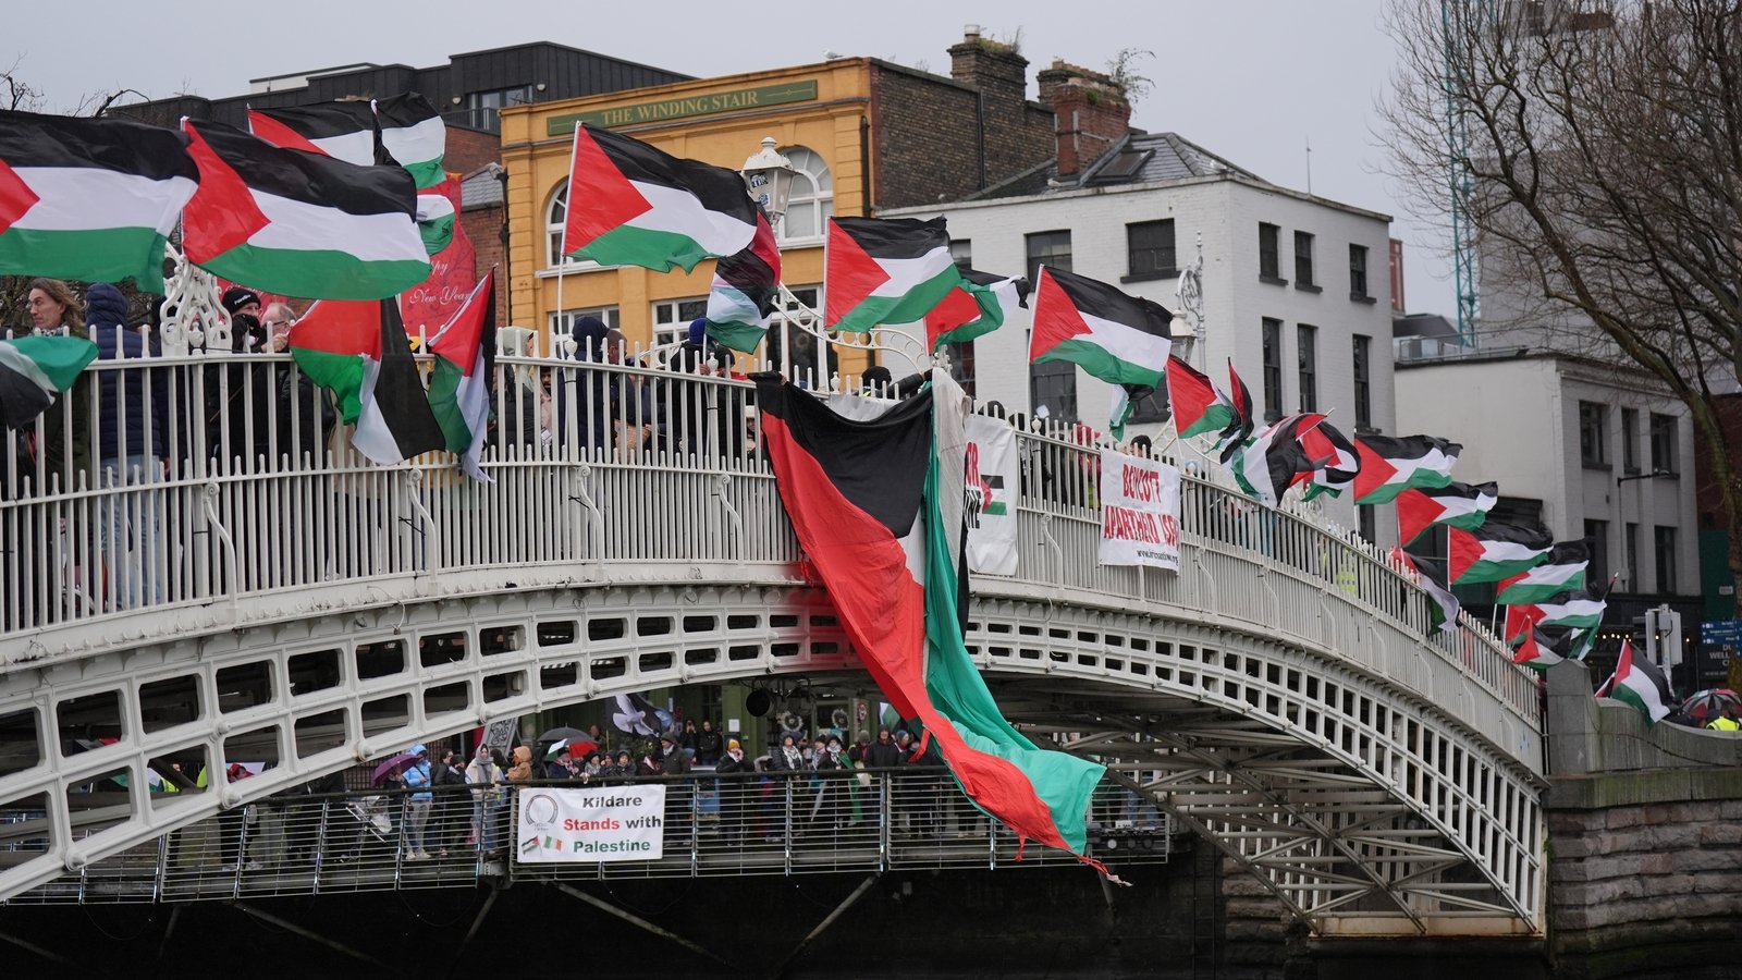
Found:
<svg viewBox="0 0 1742 980"><path fill-rule="evenodd" d="M495 371L490 485L442 453L329 452L343 429L282 356L98 361L23 452L0 434L0 898L493 718L753 678L874 691L747 384ZM1319 933L1542 931L1542 708L1502 643L1430 633L1355 535L1193 476L1181 570L1103 567L1097 450L1019 445L1019 572L976 575L969 610L1012 722ZM153 793L167 760L267 767Z"/></svg>

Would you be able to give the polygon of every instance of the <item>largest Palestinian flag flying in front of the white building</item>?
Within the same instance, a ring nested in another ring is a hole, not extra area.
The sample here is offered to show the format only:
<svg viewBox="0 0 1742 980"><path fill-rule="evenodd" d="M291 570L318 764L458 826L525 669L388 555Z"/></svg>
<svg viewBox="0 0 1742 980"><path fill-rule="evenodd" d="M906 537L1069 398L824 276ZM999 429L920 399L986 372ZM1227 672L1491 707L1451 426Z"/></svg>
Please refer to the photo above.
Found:
<svg viewBox="0 0 1742 980"><path fill-rule="evenodd" d="M1160 387L1174 314L1153 300L1063 269L1040 267L1028 361L1070 361L1110 384Z"/></svg>

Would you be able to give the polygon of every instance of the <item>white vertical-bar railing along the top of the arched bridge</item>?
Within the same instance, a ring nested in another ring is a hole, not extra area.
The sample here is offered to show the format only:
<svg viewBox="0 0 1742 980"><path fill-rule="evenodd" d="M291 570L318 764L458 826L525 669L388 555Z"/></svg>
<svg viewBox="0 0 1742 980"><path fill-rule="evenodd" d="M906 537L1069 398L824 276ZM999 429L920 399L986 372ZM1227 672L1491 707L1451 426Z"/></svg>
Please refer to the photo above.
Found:
<svg viewBox="0 0 1742 980"><path fill-rule="evenodd" d="M798 579L753 387L648 363L498 357L483 450L493 483L479 483L448 453L364 460L286 354L99 359L42 419L0 432L0 666L359 596L693 579L700 565ZM1282 631L1329 623L1331 600L1428 635L1425 593L1371 544L1192 473L1181 534L1197 574L1099 565L1099 445L1084 432L1019 425L1016 582ZM1430 643L1538 717L1531 678L1486 630L1462 621Z"/></svg>

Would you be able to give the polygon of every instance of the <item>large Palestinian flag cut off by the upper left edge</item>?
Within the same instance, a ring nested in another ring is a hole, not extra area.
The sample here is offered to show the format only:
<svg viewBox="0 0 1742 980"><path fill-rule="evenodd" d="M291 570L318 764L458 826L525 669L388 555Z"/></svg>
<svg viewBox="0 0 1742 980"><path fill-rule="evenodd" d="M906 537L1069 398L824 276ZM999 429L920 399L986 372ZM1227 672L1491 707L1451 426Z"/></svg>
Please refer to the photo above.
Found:
<svg viewBox="0 0 1742 980"><path fill-rule="evenodd" d="M0 274L162 293L164 244L197 183L172 129L0 112Z"/></svg>

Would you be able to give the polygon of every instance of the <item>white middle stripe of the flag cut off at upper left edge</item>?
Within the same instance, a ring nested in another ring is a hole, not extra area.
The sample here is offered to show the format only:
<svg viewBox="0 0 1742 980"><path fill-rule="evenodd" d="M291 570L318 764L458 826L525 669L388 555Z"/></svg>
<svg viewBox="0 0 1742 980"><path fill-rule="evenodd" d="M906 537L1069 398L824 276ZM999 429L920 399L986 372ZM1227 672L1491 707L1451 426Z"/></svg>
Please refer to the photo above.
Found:
<svg viewBox="0 0 1742 980"><path fill-rule="evenodd" d="M37 232L157 228L167 235L195 190L185 176L152 180L98 167L16 167L14 173L42 201L12 227Z"/></svg>

